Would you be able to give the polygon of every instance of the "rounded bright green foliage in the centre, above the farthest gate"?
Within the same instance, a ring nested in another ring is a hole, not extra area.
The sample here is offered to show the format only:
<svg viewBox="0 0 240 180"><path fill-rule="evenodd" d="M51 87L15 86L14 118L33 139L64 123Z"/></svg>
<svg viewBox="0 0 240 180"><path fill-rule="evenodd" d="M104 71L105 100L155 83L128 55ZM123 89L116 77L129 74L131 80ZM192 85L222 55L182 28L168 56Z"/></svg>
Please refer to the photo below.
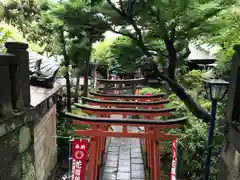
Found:
<svg viewBox="0 0 240 180"><path fill-rule="evenodd" d="M94 59L99 65L108 65L113 73L135 73L141 64L144 54L130 38L119 36L116 39L106 39L100 43L94 52Z"/></svg>

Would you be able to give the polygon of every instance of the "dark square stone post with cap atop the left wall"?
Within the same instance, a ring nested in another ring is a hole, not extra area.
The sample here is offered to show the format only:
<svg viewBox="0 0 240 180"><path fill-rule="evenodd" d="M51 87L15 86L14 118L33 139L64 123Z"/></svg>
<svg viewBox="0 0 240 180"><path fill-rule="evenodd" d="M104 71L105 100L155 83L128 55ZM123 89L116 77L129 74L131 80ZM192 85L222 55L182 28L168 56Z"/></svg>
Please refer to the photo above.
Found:
<svg viewBox="0 0 240 180"><path fill-rule="evenodd" d="M16 77L16 84L12 85L15 86L16 108L21 110L25 107L30 107L28 44L7 42L5 46L7 48L7 53L15 55L16 61L19 62L18 67L13 68L10 74L13 73Z"/></svg>

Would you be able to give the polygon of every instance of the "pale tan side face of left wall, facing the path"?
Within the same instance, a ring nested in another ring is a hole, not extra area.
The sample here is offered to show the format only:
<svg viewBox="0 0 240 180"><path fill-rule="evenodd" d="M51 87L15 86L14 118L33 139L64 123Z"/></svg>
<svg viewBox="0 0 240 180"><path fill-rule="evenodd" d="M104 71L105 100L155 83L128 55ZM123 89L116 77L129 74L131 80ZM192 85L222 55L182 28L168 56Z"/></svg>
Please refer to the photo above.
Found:
<svg viewBox="0 0 240 180"><path fill-rule="evenodd" d="M56 106L34 127L35 167L37 180L46 180L57 161Z"/></svg>

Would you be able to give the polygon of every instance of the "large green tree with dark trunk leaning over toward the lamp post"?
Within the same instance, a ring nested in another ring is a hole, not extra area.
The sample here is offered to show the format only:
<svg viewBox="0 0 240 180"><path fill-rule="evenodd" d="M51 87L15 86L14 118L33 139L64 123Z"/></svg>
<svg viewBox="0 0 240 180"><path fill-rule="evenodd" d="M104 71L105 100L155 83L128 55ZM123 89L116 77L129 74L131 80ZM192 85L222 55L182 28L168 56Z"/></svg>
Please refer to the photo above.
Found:
<svg viewBox="0 0 240 180"><path fill-rule="evenodd" d="M110 29L131 38L147 56L145 61L149 64L148 68L154 71L155 78L166 81L196 117L209 122L212 118L210 114L179 84L175 72L190 53L188 42L221 29L224 21L216 15L234 2L223 0L119 0L117 3L106 0L106 2L101 12L110 22ZM157 39L160 44L164 44L164 48L149 44L149 39ZM153 61L156 55L166 61L167 74Z"/></svg>

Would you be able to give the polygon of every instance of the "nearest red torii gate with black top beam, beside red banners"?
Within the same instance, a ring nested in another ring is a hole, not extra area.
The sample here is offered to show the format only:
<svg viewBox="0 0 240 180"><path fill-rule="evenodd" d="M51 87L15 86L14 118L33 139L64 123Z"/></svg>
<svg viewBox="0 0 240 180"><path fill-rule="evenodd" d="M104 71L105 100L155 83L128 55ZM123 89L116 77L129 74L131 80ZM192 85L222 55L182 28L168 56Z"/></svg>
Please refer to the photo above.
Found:
<svg viewBox="0 0 240 180"><path fill-rule="evenodd" d="M93 159L88 167L88 180L97 180L99 176L99 169L102 163L102 155L105 148L105 140L107 137L131 137L143 138L148 140L149 147L148 167L150 170L150 180L160 180L160 154L158 140L173 141L177 139L177 135L169 135L160 132L160 129L178 128L186 123L187 117L172 119L172 120L142 120L142 119L109 119L104 117L90 118L77 116L75 114L66 113L66 117L73 119L73 124L91 126L87 130L75 130L79 136L91 137L90 157ZM128 132L127 128L123 128L122 132L109 132L106 126L136 126L148 128L148 132L133 133ZM125 130L124 130L125 129Z"/></svg>

